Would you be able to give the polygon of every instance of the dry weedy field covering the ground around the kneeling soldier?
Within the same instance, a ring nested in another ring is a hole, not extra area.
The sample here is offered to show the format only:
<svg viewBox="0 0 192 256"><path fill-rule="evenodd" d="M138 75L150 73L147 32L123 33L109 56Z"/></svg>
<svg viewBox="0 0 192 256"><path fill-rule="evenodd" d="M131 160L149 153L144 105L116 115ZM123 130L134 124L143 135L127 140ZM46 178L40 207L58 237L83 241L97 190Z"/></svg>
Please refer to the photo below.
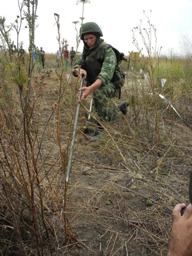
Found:
<svg viewBox="0 0 192 256"><path fill-rule="evenodd" d="M0 255L166 256L172 210L188 201L191 60L149 55L131 59L129 67L122 63L121 99L109 105L128 100L128 113L101 123L96 142L89 137L97 116L89 112L90 99L83 101L67 182L80 80L63 59L56 68L55 55L46 55L45 69L35 63L32 32L23 65L4 23L1 18Z"/></svg>

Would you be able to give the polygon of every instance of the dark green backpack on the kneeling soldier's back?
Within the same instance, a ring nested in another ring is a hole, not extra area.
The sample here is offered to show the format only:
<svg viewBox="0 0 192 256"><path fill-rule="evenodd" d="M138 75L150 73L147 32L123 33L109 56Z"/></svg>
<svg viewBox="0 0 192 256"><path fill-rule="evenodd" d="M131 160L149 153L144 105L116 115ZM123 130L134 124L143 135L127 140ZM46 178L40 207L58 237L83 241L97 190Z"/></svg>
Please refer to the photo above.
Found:
<svg viewBox="0 0 192 256"><path fill-rule="evenodd" d="M99 47L109 45L106 42L102 42ZM114 84L115 89L119 91L119 99L121 98L121 87L123 87L125 83L125 73L123 72L122 69L119 68L119 64L121 63L122 60L127 61L127 59L124 57L124 54L122 52L119 52L119 50L115 49L113 46L109 45L112 50L114 51L117 59L117 64L114 69L114 75L113 78L111 79L111 82Z"/></svg>

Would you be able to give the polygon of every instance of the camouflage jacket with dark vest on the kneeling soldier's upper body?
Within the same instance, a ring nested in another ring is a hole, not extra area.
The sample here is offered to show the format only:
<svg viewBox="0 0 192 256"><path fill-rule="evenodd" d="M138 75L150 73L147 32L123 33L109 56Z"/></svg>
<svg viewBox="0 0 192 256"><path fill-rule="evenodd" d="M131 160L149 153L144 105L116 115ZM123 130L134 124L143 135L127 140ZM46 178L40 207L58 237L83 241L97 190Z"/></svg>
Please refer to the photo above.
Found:
<svg viewBox="0 0 192 256"><path fill-rule="evenodd" d="M116 55L109 45L99 47L102 41L104 40L99 40L95 49L92 50L92 54L90 52L86 56L83 50L81 58L74 64L73 69L81 65L81 68L87 71L87 86L90 86L97 78L100 78L102 86L105 86L113 78L116 66Z"/></svg>

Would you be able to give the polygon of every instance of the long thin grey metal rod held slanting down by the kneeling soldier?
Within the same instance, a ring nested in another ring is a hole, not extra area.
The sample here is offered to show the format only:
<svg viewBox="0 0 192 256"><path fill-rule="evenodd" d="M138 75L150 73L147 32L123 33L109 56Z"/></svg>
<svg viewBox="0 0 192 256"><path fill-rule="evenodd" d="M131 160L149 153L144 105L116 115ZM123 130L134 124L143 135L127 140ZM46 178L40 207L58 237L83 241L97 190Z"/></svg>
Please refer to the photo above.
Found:
<svg viewBox="0 0 192 256"><path fill-rule="evenodd" d="M82 78L82 80L81 80L80 88L83 87L83 82L84 82L84 78ZM81 96L82 96L82 91L79 91L79 101L81 100ZM78 125L78 114L79 114L80 105L81 105L81 103L78 103L77 110L76 110L76 116L75 116L75 122L74 122L74 128L73 128L73 137L72 137L72 141L71 141L71 148L70 148L69 160L68 160L68 165L67 165L67 174L66 174L66 182L67 183L69 181L69 174L71 171L71 163L72 163L72 158L73 158L73 149L74 149L75 135L76 135L77 125Z"/></svg>

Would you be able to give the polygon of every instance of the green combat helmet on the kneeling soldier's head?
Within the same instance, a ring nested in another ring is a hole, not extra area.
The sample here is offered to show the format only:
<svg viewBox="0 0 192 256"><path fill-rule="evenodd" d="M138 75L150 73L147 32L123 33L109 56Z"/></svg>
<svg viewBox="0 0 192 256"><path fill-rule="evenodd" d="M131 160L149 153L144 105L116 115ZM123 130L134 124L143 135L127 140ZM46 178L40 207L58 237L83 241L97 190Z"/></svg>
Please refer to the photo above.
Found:
<svg viewBox="0 0 192 256"><path fill-rule="evenodd" d="M103 36L103 33L101 31L101 28L95 23L95 22L87 22L82 24L79 35L81 37L81 40L83 40L83 36L86 34L98 34L100 37Z"/></svg>

